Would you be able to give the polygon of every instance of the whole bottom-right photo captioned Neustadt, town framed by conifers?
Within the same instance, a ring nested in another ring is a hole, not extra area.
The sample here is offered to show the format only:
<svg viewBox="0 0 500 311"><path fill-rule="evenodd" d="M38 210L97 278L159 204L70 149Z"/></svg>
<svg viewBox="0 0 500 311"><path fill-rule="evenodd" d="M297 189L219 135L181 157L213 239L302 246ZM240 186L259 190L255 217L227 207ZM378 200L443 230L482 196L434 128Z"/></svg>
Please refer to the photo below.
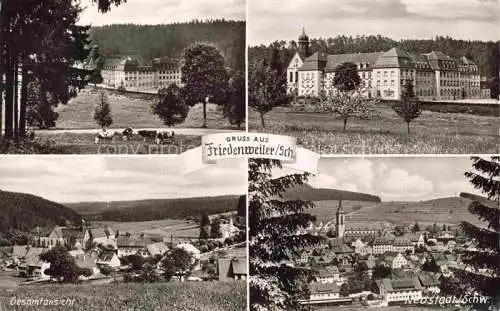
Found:
<svg viewBox="0 0 500 311"><path fill-rule="evenodd" d="M250 310L496 310L500 158L249 161Z"/></svg>

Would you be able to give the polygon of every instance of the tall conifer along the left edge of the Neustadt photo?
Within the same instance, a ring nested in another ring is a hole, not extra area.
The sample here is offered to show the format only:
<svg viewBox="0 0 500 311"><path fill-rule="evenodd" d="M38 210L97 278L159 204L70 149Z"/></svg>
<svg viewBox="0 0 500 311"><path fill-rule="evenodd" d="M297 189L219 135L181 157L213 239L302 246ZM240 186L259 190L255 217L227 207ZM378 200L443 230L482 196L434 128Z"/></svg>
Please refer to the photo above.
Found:
<svg viewBox="0 0 500 311"><path fill-rule="evenodd" d="M301 229L315 217L306 213L311 202L284 200L286 189L307 182L309 174L273 178L276 160L251 159L249 193L250 310L302 310L311 270L295 266L300 253L320 245L323 238Z"/></svg>

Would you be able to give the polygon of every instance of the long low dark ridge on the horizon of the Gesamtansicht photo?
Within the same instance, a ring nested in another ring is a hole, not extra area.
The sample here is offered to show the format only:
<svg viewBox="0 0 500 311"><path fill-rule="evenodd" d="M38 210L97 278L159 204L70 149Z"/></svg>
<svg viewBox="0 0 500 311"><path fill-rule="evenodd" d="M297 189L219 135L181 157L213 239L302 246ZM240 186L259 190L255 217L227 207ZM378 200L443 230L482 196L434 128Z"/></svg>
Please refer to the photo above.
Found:
<svg viewBox="0 0 500 311"><path fill-rule="evenodd" d="M139 201L82 202L66 205L85 218L101 221L150 221L198 218L238 209L240 196L215 196Z"/></svg>

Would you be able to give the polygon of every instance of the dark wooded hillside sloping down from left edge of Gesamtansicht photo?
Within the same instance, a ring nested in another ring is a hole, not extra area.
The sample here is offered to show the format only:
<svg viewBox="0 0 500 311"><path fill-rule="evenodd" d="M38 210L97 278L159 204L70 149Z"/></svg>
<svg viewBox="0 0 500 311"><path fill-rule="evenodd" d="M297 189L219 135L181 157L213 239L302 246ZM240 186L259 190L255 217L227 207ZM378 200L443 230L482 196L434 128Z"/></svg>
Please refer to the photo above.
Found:
<svg viewBox="0 0 500 311"><path fill-rule="evenodd" d="M79 223L81 215L64 205L26 193L0 190L0 233L36 226Z"/></svg>

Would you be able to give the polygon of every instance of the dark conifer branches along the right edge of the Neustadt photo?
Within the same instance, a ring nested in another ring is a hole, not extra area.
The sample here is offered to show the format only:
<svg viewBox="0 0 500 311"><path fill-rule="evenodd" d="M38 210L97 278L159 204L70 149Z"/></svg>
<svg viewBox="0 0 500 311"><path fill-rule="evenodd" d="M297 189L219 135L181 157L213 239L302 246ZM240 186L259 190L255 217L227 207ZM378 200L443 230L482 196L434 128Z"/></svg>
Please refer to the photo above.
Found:
<svg viewBox="0 0 500 311"><path fill-rule="evenodd" d="M466 250L463 262L469 269L454 269L455 278L445 279L442 290L455 295L480 295L488 303L473 303L475 310L497 310L500 303L500 157L472 157L473 171L465 176L485 196L461 193L472 200L469 211L485 225L463 221L461 230L472 240L475 250Z"/></svg>

